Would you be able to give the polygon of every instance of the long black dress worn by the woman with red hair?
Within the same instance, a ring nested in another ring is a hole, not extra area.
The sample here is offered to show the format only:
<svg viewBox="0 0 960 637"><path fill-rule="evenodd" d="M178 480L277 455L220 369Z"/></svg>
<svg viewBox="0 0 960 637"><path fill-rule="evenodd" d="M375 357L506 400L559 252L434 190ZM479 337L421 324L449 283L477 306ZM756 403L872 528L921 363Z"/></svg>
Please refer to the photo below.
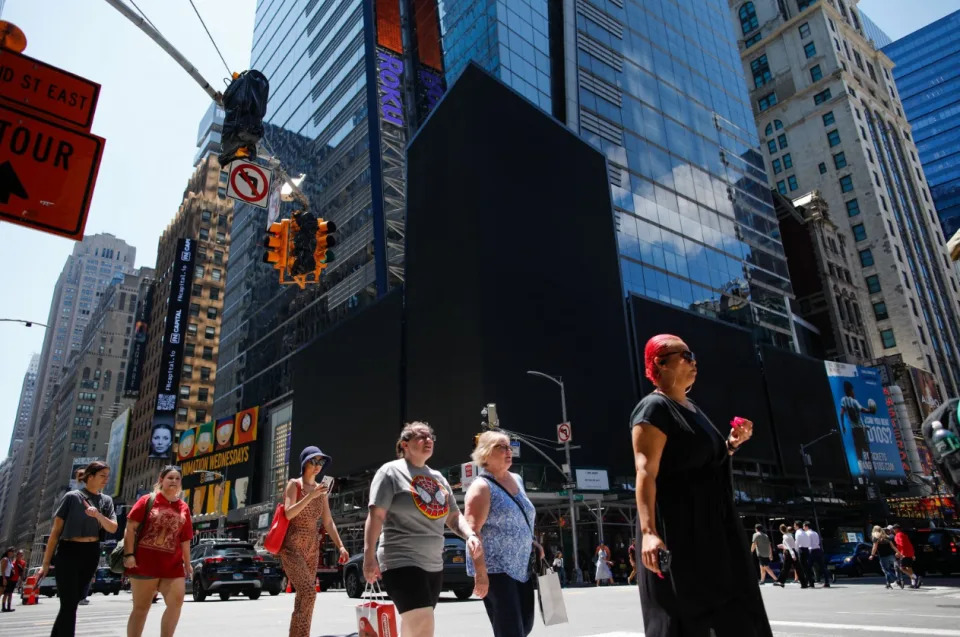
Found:
<svg viewBox="0 0 960 637"><path fill-rule="evenodd" d="M673 557L664 579L637 568L646 637L773 637L734 508L729 430L658 393L634 409L631 429L641 423L667 436L656 523Z"/></svg>

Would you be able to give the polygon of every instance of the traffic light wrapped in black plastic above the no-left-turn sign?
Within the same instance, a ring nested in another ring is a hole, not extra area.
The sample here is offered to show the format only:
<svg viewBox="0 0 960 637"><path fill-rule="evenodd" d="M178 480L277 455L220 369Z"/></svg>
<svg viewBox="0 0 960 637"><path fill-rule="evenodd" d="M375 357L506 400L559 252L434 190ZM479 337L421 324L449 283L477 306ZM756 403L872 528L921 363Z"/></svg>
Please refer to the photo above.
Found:
<svg viewBox="0 0 960 637"><path fill-rule="evenodd" d="M223 92L221 166L234 159L256 159L269 97L270 82L254 69L237 75Z"/></svg>

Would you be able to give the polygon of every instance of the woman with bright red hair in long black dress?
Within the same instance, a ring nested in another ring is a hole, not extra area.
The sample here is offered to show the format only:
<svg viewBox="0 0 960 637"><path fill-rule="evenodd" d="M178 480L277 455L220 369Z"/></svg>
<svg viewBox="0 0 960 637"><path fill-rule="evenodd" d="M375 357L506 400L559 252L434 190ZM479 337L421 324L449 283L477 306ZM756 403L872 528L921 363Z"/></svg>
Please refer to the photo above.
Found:
<svg viewBox="0 0 960 637"><path fill-rule="evenodd" d="M772 637L733 504L731 456L753 423L739 420L725 433L687 398L697 364L680 338L651 338L644 357L656 390L634 409L630 426L646 637ZM661 549L672 558L665 574Z"/></svg>

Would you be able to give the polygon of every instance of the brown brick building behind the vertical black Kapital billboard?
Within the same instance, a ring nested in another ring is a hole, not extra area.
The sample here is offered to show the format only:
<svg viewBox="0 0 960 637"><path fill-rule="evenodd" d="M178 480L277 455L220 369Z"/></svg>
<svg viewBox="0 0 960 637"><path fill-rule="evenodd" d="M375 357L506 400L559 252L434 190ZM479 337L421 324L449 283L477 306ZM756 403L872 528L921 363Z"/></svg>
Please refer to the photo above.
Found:
<svg viewBox="0 0 960 637"><path fill-rule="evenodd" d="M215 155L208 153L201 159L184 190L180 210L157 245L152 307L143 346L138 398L130 416L121 502L132 504L139 492L152 488L161 467L173 461L172 453L165 459L150 457L150 436L158 409L161 376L165 377L168 371L161 354L167 308L171 290L175 289L177 244L183 239L192 240L195 252L187 325L183 332L183 362L178 370L180 382L173 388L176 392L174 428L203 424L213 416L233 216L233 203L224 196L226 179Z"/></svg>

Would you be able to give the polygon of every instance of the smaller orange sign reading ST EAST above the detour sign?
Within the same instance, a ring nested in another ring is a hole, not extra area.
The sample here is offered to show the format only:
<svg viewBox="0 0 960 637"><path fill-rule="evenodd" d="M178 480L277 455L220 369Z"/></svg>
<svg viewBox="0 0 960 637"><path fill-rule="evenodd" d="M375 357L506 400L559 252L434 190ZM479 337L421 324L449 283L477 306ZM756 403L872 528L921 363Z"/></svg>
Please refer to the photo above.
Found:
<svg viewBox="0 0 960 637"><path fill-rule="evenodd" d="M55 119L90 131L100 85L40 60L0 49L0 96Z"/></svg>

